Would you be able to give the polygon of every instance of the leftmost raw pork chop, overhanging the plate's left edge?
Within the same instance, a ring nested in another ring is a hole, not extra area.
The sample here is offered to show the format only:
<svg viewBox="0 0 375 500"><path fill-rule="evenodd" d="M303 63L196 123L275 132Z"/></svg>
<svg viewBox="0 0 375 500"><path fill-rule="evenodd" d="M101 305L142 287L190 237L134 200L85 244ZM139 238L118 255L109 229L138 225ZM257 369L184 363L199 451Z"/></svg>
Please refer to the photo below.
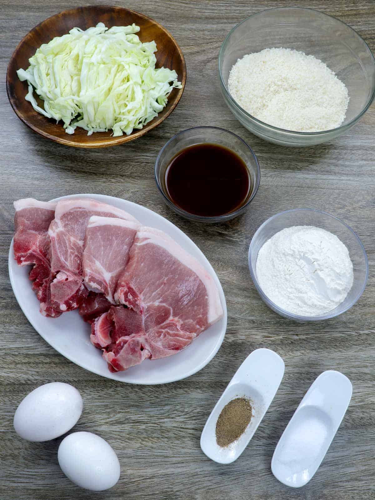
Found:
<svg viewBox="0 0 375 500"><path fill-rule="evenodd" d="M56 203L37 201L33 198L14 201L14 258L19 265L32 265L29 278L38 300L40 312L57 317L50 299L50 242L48 226L54 217Z"/></svg>

